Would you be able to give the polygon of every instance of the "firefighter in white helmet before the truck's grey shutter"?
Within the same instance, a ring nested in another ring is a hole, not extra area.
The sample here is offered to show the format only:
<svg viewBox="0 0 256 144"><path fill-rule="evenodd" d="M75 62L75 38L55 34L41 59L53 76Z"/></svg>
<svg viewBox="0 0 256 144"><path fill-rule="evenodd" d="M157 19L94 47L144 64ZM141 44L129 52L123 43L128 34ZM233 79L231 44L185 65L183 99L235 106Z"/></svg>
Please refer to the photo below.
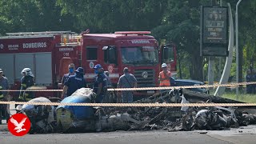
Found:
<svg viewBox="0 0 256 144"><path fill-rule="evenodd" d="M34 86L34 74L30 68L24 68L21 72L22 79L21 79L21 91L19 94L19 100L28 102L32 98L34 98L34 93L32 91L24 91L30 86Z"/></svg>

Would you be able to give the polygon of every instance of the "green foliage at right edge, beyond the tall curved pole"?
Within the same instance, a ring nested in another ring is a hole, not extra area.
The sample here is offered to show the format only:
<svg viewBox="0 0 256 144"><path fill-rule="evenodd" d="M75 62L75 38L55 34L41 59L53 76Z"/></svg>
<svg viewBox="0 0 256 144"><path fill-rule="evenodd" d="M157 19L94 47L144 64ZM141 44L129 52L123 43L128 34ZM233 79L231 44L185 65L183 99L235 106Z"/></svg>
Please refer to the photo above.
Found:
<svg viewBox="0 0 256 144"><path fill-rule="evenodd" d="M227 1L235 10L236 0ZM242 1L238 7L239 49L242 49L242 71L245 75L250 64L256 67L256 1Z"/></svg>

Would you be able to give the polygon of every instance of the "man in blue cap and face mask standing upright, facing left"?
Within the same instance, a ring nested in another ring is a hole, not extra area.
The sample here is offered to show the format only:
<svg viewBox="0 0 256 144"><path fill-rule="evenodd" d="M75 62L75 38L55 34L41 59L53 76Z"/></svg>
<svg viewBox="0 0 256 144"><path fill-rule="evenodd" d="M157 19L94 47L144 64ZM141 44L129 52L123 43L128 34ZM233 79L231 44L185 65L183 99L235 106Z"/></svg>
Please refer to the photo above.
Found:
<svg viewBox="0 0 256 144"><path fill-rule="evenodd" d="M94 73L97 76L94 78L93 91L97 94L95 98L96 103L102 103L106 95L107 78L104 70L100 64L94 66Z"/></svg>

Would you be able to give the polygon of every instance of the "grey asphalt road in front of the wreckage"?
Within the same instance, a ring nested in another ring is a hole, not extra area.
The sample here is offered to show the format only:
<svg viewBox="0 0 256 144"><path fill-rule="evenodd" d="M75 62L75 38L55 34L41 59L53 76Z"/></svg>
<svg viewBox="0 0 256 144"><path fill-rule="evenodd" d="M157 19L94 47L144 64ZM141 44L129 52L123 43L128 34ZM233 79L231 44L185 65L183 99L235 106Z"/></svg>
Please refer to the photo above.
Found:
<svg viewBox="0 0 256 144"><path fill-rule="evenodd" d="M14 114L13 106L11 113ZM3 120L2 122L6 122ZM226 143L256 143L256 126L245 126L230 130L196 130L167 132L166 130L152 131L115 131L108 133L82 133L82 134L26 134L15 137L10 134L6 123L0 125L0 144L79 144L79 143L194 143L194 144L226 144Z"/></svg>

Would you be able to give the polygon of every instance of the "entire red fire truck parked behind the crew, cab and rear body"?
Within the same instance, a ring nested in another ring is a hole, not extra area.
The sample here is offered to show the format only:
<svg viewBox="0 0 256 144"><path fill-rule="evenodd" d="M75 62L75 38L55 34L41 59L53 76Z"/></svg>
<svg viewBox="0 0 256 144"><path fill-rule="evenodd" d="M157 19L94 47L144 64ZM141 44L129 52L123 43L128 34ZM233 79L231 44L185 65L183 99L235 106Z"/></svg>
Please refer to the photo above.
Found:
<svg viewBox="0 0 256 144"><path fill-rule="evenodd" d="M149 31L122 31L114 34L74 34L70 31L7 33L0 38L0 67L9 78L12 89L18 90L21 70L30 67L36 86L58 89L67 66L73 62L85 69L85 78L93 82L93 67L101 64L110 72L114 86L128 67L138 79L138 87L158 86L161 63L176 70L174 45L158 48ZM175 74L173 72L173 74ZM140 91L146 94L154 90ZM56 93L36 93L37 96L57 96Z"/></svg>

